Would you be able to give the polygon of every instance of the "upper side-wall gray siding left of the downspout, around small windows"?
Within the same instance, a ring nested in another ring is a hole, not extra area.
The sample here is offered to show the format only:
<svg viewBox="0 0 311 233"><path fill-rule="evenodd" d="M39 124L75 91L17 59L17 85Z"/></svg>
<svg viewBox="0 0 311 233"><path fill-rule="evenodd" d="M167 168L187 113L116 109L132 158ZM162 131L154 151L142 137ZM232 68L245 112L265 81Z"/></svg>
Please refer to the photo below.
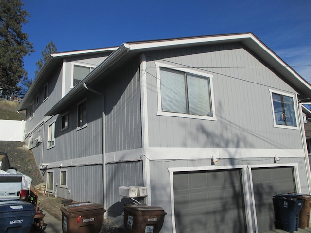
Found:
<svg viewBox="0 0 311 233"><path fill-rule="evenodd" d="M84 99L77 100L69 108L69 128L61 131L61 115L55 123L55 147L45 150L44 162L63 161L102 154L102 97L90 93L86 97L87 126L77 130L77 104ZM45 125L45 139L48 136L48 125ZM46 140L44 147L46 148ZM90 161L91 162L91 161Z"/></svg>

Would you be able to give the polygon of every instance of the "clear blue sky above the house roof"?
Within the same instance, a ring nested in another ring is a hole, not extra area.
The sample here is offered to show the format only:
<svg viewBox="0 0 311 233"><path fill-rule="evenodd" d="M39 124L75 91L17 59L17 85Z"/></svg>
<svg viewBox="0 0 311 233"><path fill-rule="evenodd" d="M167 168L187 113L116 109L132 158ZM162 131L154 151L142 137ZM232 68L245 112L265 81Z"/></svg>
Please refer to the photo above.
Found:
<svg viewBox="0 0 311 233"><path fill-rule="evenodd" d="M24 58L29 78L45 46L58 52L124 42L254 33L311 82L311 0L22 0L23 26L35 52Z"/></svg>

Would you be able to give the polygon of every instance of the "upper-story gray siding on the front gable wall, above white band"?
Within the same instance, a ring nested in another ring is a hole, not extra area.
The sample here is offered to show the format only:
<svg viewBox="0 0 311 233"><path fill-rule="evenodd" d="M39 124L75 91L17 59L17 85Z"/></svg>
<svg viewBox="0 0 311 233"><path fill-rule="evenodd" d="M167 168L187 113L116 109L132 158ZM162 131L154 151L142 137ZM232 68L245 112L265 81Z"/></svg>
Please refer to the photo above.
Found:
<svg viewBox="0 0 311 233"><path fill-rule="evenodd" d="M269 89L295 91L240 44L146 57L150 147L302 148L299 130L273 127ZM157 116L155 61L213 75L217 121Z"/></svg>

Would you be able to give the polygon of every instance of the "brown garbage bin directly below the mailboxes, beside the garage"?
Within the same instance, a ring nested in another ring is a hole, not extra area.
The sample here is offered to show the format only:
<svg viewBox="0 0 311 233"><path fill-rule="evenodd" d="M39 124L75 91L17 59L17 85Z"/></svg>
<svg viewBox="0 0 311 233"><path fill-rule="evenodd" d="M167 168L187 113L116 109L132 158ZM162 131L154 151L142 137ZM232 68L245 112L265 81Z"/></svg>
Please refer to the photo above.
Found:
<svg viewBox="0 0 311 233"><path fill-rule="evenodd" d="M124 228L127 233L159 233L166 212L157 206L125 205Z"/></svg>

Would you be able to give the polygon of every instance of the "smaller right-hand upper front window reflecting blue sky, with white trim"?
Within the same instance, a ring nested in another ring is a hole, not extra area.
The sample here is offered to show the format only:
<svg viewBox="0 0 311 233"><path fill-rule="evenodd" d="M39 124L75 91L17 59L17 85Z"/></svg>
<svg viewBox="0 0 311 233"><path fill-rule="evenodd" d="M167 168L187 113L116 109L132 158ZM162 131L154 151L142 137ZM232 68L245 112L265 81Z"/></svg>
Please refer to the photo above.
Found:
<svg viewBox="0 0 311 233"><path fill-rule="evenodd" d="M294 95L270 90L273 107L274 126L297 128L297 111Z"/></svg>

